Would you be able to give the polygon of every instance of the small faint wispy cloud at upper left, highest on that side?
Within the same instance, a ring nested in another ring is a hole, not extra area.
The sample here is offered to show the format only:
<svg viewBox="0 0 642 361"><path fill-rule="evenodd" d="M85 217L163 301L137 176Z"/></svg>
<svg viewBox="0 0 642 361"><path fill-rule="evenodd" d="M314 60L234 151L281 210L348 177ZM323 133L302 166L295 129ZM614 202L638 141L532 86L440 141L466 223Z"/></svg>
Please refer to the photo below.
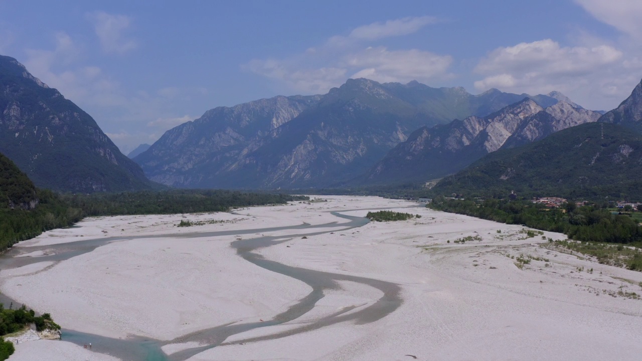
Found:
<svg viewBox="0 0 642 361"><path fill-rule="evenodd" d="M87 13L87 18L94 22L94 30L105 53L123 54L137 48L135 40L127 39L123 35L132 22L130 17L95 12Z"/></svg>

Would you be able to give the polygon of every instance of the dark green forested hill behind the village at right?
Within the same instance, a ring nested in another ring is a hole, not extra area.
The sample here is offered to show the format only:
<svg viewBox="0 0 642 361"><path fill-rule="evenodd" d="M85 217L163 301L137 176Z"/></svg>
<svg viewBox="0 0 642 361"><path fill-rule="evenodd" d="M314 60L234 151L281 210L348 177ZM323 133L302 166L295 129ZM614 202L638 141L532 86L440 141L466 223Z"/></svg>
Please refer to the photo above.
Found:
<svg viewBox="0 0 642 361"><path fill-rule="evenodd" d="M518 148L485 155L433 191L465 197L517 195L642 200L642 135L587 123Z"/></svg>

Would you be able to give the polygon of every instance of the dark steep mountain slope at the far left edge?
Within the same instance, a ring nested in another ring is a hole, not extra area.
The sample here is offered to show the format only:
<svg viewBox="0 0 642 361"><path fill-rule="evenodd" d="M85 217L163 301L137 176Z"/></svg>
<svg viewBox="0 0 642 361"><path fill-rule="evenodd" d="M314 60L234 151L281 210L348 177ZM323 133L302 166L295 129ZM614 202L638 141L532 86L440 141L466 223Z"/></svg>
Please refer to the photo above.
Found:
<svg viewBox="0 0 642 361"><path fill-rule="evenodd" d="M79 192L150 187L89 114L14 58L0 56L0 89L0 152L36 186Z"/></svg>

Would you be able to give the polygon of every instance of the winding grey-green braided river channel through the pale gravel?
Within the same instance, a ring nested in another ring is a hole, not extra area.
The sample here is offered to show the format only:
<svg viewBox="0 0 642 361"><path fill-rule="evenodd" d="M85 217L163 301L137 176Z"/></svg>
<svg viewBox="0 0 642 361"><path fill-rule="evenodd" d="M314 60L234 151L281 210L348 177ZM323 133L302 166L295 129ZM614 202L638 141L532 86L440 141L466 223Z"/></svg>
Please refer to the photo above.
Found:
<svg viewBox="0 0 642 361"><path fill-rule="evenodd" d="M246 240L236 240L231 243L231 247L236 249L236 253L238 254L238 256L240 256L244 260L262 267L263 269L277 272L294 279L298 279L299 281L306 283L312 288L312 291L308 295L306 295L306 297L300 299L297 303L290 306L290 308L288 308L284 312L274 315L272 319L261 322L223 324L206 330L196 331L188 335L183 335L174 340L154 340L146 337L113 339L110 337L93 335L91 333L83 333L80 331L67 329L62 330L62 339L64 339L65 341L73 342L74 344L78 344L80 346L91 343L92 345L94 345L92 351L107 353L109 355L113 355L114 357L121 358L122 360L183 361L187 358L192 357L193 355L205 351L206 349L211 349L217 346L225 346L226 340L232 335L243 333L245 331L253 330L256 328L275 326L298 319L315 307L315 304L317 304L317 302L324 297L325 290L340 288L337 281L351 281L355 283L361 283L362 285L371 286L381 290L381 292L383 292L383 295L375 303L372 303L369 306L362 308L356 312L350 312L354 310L356 306L347 306L334 314L321 317L320 319L316 319L315 321L304 323L302 326L297 326L296 328L287 331L275 332L261 337L236 340L234 343L240 344L279 339L281 337L287 337L290 335L295 335L297 333L316 330L318 328L336 324L338 322L366 324L369 322L377 321L378 319L385 317L389 313L392 313L397 308L399 308L403 300L401 299L400 295L401 289L399 285L396 285L395 283L379 281L377 279L370 279L367 277L348 276L331 272L302 269L300 267L291 267L282 263L267 260L257 252L254 252L257 249L270 247L272 245L286 242L291 238L314 236L317 234L330 232L330 230L318 231L318 229L320 228L332 228L331 231L345 231L348 229L361 227L368 223L368 219L363 217L347 216L336 212L331 212L331 214L339 218L348 220L349 222L344 222L341 224L338 224L338 222L331 222L322 225L300 224L288 227L245 229L236 231L160 234L152 236L105 237L77 242L61 243L56 245L15 247L0 257L0 269L14 269L17 267L22 267L25 265L30 265L32 263L39 263L43 261L54 261L57 263L59 261L69 260L70 258L79 256L80 254L94 251L94 249L106 245L110 242L126 242L127 240L133 240L137 238L172 237L180 240L181 238L212 238L217 236L269 233L272 231L292 231L288 235L259 236L257 238L248 238ZM338 227L341 227L341 229L337 229ZM313 233L306 233L306 230L308 229L317 229L317 231ZM20 254L35 251L43 251L48 255L39 257L16 257ZM0 295L0 302L3 302L5 305L9 303L13 303L15 305L21 303L29 304L28 300L13 300L5 297L4 295ZM55 317L55 315L53 316ZM183 351L179 351L171 355L165 355L165 353L163 353L160 349L166 344L175 344L182 342L198 342L198 344L204 344L206 346L184 349Z"/></svg>

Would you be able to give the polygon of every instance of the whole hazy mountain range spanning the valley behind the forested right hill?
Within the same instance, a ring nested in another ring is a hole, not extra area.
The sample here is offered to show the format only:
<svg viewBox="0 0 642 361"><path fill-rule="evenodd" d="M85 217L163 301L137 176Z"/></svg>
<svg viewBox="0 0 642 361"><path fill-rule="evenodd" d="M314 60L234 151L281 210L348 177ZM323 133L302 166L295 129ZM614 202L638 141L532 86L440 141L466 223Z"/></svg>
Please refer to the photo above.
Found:
<svg viewBox="0 0 642 361"><path fill-rule="evenodd" d="M208 110L139 146L132 161L89 114L15 59L0 57L0 86L0 152L35 186L83 193L160 187L153 181L237 189L425 182L584 123L642 132L642 84L602 115L560 92L473 95L361 78L323 95Z"/></svg>

